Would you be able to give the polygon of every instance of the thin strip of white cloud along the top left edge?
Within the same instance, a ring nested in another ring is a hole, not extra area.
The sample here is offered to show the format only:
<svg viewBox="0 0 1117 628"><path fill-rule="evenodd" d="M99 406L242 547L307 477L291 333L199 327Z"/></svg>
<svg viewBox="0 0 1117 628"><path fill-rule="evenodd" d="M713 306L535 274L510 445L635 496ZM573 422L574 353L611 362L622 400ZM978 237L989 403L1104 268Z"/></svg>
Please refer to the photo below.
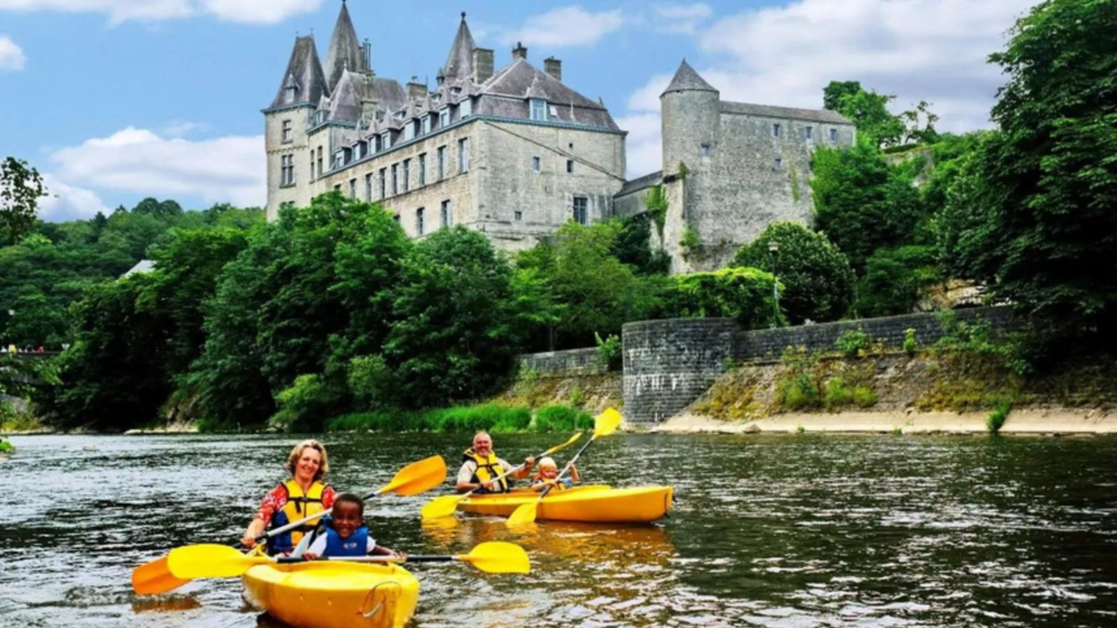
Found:
<svg viewBox="0 0 1117 628"><path fill-rule="evenodd" d="M219 19L275 23L317 11L322 0L0 0L0 11L107 13L109 23L157 21L209 13Z"/></svg>

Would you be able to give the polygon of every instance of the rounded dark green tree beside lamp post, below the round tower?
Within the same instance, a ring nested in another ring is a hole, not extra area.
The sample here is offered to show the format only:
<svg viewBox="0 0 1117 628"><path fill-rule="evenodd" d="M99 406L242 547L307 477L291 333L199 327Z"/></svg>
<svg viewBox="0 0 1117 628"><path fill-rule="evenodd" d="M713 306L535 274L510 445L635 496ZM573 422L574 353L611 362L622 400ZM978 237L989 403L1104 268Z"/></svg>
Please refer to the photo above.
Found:
<svg viewBox="0 0 1117 628"><path fill-rule="evenodd" d="M785 286L780 307L793 325L841 318L853 302L856 277L849 259L824 234L796 222L773 222L741 247L733 266L772 270L767 244L780 242L775 275Z"/></svg>

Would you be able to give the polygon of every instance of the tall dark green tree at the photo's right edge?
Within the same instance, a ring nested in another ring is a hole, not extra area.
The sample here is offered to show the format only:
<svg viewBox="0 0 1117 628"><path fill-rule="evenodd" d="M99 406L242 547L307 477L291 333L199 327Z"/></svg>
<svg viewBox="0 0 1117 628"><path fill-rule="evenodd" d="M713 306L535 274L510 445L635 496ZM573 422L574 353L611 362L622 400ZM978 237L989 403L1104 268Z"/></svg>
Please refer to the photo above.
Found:
<svg viewBox="0 0 1117 628"><path fill-rule="evenodd" d="M1117 7L1048 0L990 61L1008 74L1000 129L977 159L964 241L973 276L1049 341L1097 335L1117 313Z"/></svg>

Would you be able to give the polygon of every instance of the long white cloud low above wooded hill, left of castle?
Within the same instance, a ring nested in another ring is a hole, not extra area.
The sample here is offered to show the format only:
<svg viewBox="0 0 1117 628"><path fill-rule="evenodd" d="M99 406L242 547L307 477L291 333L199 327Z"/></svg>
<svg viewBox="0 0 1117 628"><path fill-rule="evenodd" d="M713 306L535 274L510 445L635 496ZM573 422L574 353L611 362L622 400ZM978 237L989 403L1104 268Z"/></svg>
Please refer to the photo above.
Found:
<svg viewBox="0 0 1117 628"><path fill-rule="evenodd" d="M57 150L50 160L63 180L99 190L238 206L262 206L267 197L262 135L191 141L128 126Z"/></svg>

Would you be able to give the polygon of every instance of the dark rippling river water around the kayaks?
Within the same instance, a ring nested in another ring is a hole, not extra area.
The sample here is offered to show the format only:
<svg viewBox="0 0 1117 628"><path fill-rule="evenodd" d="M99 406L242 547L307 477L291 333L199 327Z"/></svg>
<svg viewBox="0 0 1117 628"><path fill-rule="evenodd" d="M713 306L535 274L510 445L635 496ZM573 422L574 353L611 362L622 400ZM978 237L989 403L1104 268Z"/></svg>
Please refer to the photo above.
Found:
<svg viewBox="0 0 1117 628"><path fill-rule="evenodd" d="M341 489L370 492L461 435L327 435ZM558 436L498 435L509 459ZM15 437L0 458L0 626L278 628L237 579L132 594L132 568L239 537L296 438ZM572 451L573 448L567 451ZM563 451L557 457L565 462ZM522 544L531 575L417 564L416 625L1117 626L1117 439L614 435L593 483L670 483L652 526L422 524L439 492L370 502L411 553ZM449 485L446 486L449 489Z"/></svg>

